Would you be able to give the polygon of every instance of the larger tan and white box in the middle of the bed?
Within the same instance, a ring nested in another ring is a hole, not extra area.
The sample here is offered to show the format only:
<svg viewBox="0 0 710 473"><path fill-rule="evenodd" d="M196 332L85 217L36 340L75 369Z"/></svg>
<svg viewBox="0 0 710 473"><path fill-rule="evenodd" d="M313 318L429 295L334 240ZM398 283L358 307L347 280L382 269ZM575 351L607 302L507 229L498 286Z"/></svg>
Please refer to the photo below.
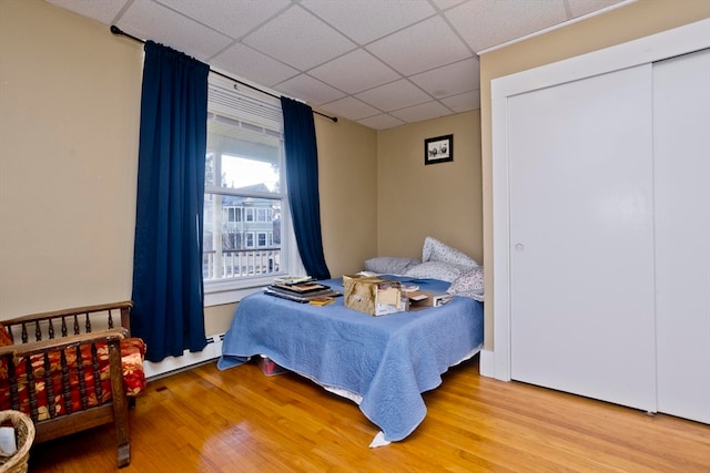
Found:
<svg viewBox="0 0 710 473"><path fill-rule="evenodd" d="M345 307L371 316L403 312L407 299L403 298L398 281L372 276L344 275Z"/></svg>

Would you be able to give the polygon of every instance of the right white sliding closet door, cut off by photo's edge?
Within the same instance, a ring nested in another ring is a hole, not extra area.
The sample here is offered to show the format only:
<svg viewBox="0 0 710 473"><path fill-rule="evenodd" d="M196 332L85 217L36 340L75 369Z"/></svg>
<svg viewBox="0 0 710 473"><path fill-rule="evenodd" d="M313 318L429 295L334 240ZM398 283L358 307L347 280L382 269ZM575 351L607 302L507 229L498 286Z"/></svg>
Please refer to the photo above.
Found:
<svg viewBox="0 0 710 473"><path fill-rule="evenodd" d="M653 65L658 410L710 423L710 50Z"/></svg>

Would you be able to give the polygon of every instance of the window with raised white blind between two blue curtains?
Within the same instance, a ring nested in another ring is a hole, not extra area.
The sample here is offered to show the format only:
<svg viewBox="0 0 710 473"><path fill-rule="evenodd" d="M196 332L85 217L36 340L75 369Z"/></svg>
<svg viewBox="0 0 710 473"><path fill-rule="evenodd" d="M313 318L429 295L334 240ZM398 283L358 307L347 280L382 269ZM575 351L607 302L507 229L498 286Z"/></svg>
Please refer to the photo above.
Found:
<svg viewBox="0 0 710 473"><path fill-rule="evenodd" d="M285 195L277 99L210 76L205 155L205 305L239 300L275 275L300 273ZM248 291L247 291L248 292ZM210 297L210 295L216 295Z"/></svg>

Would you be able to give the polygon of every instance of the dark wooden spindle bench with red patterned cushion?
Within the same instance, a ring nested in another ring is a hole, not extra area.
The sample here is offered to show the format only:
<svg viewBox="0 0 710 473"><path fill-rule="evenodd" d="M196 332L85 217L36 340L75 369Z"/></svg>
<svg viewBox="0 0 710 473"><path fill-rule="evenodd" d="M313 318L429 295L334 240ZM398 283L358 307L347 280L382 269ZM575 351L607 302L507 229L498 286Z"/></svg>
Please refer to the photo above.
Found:
<svg viewBox="0 0 710 473"><path fill-rule="evenodd" d="M113 422L118 465L128 465L129 399L145 388L145 345L130 338L132 306L124 301L0 320L0 409L28 414L36 442Z"/></svg>

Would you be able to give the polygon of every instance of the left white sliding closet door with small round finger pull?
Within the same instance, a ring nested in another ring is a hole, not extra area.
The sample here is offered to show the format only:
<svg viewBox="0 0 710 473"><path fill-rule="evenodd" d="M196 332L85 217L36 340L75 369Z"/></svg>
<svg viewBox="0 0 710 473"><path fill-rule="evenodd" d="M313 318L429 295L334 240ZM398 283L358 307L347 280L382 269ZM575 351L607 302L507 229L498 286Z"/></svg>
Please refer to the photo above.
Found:
<svg viewBox="0 0 710 473"><path fill-rule="evenodd" d="M650 64L508 100L513 379L656 410Z"/></svg>

